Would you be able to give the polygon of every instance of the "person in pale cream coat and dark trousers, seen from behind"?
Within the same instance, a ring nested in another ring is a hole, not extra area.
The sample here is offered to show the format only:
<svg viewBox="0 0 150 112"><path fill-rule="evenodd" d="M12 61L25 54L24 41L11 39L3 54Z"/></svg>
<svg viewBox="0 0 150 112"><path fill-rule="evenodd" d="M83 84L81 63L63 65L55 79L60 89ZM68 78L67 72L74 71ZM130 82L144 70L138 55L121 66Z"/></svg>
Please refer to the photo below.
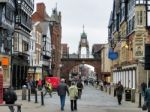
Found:
<svg viewBox="0 0 150 112"><path fill-rule="evenodd" d="M71 82L71 86L69 87L69 96L71 111L77 110L78 88L75 85L75 82Z"/></svg>

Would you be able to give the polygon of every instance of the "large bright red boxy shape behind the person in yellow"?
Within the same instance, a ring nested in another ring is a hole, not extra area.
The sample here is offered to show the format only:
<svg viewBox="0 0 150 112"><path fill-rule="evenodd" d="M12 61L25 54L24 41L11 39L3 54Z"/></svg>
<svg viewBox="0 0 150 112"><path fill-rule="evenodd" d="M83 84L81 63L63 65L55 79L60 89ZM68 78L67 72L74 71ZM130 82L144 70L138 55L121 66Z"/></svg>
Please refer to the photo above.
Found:
<svg viewBox="0 0 150 112"><path fill-rule="evenodd" d="M46 77L45 78L46 83L52 84L52 88L56 89L60 83L59 77Z"/></svg>

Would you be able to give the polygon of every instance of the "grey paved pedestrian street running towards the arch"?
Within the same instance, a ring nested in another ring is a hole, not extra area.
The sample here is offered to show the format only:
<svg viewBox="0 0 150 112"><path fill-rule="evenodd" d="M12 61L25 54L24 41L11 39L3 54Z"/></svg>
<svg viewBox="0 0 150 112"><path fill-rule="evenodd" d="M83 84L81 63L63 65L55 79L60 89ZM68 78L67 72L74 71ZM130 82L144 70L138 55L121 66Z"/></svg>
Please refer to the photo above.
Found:
<svg viewBox="0 0 150 112"><path fill-rule="evenodd" d="M18 103L22 103L22 112L61 112L59 105L59 97L53 93L53 97L45 96L45 105L41 106L40 96L38 103L34 103L34 96L31 101L21 100L21 91L18 92ZM0 107L0 112L9 112L8 108ZM69 97L67 96L65 111L70 111ZM108 95L105 92L97 90L92 86L85 86L81 100L78 100L78 112L142 112L141 108L137 108L137 104L123 101L122 105L117 104L116 97Z"/></svg>

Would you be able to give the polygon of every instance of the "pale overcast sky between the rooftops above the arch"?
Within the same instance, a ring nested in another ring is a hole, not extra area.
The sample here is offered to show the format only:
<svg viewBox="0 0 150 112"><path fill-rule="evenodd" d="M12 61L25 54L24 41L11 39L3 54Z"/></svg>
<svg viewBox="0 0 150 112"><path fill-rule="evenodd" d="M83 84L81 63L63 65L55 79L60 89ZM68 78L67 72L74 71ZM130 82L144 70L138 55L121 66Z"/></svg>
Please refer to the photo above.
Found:
<svg viewBox="0 0 150 112"><path fill-rule="evenodd" d="M39 2L45 3L49 15L56 6L62 13L62 43L68 44L70 53L78 51L83 25L90 52L93 44L107 42L113 0L35 0Z"/></svg>

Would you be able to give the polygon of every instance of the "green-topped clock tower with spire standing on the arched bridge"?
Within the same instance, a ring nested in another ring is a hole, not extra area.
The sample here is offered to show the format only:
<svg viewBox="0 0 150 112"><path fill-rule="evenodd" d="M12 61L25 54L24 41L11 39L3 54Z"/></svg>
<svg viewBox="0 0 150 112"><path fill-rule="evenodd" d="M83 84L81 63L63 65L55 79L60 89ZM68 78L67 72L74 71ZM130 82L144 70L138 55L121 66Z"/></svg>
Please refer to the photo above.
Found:
<svg viewBox="0 0 150 112"><path fill-rule="evenodd" d="M86 58L89 58L89 43L87 40L87 35L84 32L84 25L83 25L83 33L81 34L81 39L80 39L79 48L78 48L79 58L81 58L81 48L82 47L86 47Z"/></svg>

